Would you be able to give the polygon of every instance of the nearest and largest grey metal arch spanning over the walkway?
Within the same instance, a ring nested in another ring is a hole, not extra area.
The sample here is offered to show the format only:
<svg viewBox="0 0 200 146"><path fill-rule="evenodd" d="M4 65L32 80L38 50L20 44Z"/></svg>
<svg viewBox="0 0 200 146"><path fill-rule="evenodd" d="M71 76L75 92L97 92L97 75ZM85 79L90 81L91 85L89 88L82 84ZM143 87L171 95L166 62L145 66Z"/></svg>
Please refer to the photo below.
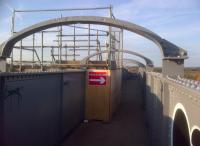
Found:
<svg viewBox="0 0 200 146"><path fill-rule="evenodd" d="M62 17L57 19L50 19L47 21L43 21L41 23L37 23L28 28L25 28L18 33L14 34L10 37L6 42L0 45L0 58L7 58L10 56L13 46L19 40L36 33L38 31L48 29L51 27L56 27L59 25L70 25L70 24L99 24L99 25L107 25L118 27L122 29L129 30L136 34L139 34L158 45L161 49L162 55L164 59L186 59L187 52L182 48L170 43L169 41L162 39L160 36L155 34L154 32L141 27L139 25L118 20L107 17L100 16L71 16L71 17Z"/></svg>

